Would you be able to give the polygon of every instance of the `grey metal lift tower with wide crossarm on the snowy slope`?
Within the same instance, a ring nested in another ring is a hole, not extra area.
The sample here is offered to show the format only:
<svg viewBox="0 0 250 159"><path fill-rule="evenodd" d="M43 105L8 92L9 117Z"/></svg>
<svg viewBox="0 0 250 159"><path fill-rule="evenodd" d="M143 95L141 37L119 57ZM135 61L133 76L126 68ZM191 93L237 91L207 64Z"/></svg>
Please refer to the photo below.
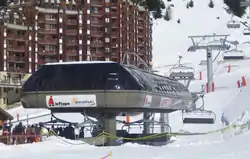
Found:
<svg viewBox="0 0 250 159"><path fill-rule="evenodd" d="M198 36L188 36L192 40L193 45L188 48L189 52L195 52L196 50L206 50L207 51L207 83L208 92L212 91L213 84L213 50L228 50L230 45L226 44L227 37L229 35L198 35ZM216 40L216 38L219 38ZM196 40L196 41L195 41Z"/></svg>

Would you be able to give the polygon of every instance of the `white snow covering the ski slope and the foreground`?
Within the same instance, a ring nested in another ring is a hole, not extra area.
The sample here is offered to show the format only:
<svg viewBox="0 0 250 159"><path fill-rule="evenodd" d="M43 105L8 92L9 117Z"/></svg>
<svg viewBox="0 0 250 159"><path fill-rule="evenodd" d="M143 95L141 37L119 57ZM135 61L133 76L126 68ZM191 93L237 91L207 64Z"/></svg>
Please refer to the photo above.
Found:
<svg viewBox="0 0 250 159"><path fill-rule="evenodd" d="M250 37L243 36L240 29L228 29L227 22L230 16L223 9L222 0L213 0L214 8L208 8L208 0L194 0L194 8L186 9L187 0L173 0L166 2L174 4L172 8L172 21L166 22L162 19L155 20L153 25L153 64L161 74L168 74L170 67L177 62L178 55L183 56L184 63L189 63L196 70L196 80L191 82L191 91L200 91L201 85L206 83L206 67L198 65L201 60L206 59L205 51L187 52L191 45L190 35L205 34L230 34L228 40L238 40L238 49L241 49L250 57L249 46L244 42ZM217 18L219 17L219 19ZM181 23L176 21L180 18ZM203 41L204 42L204 41ZM207 42L207 41L205 41ZM217 52L214 52L215 56ZM181 113L174 112L169 115L170 125L173 131L185 130L188 132L207 132L221 129L221 114L224 112L231 123L244 124L249 121L250 109L250 86L243 88L242 92L237 88L236 82L245 76L250 82L250 60L220 62L222 56L214 63L215 92L205 95L205 108L213 110L217 115L216 123L213 125L182 124ZM231 72L227 73L228 64L232 65ZM203 80L198 80L199 72L202 72ZM199 102L197 103L199 104ZM47 114L46 117L39 117L32 122L43 122L50 119L48 110L26 110L22 107L9 111L14 117L19 114L20 118L39 116ZM72 114L61 114L65 120L82 121L82 117ZM141 116L132 120L140 119ZM239 135L240 134L240 135ZM112 159L181 159L187 156L193 159L248 159L250 155L250 133L248 129L230 129L222 133L213 133L203 136L176 136L172 138L173 143L163 147L139 146L126 144L120 147L93 147L87 144L79 144L76 141L64 142L60 138L51 137L43 143L17 146L0 145L2 158L19 159L29 158L61 158L61 159L96 159L102 158L112 151ZM15 153L13 153L15 152ZM180 153L181 152L181 153ZM111 158L111 157L110 157Z"/></svg>

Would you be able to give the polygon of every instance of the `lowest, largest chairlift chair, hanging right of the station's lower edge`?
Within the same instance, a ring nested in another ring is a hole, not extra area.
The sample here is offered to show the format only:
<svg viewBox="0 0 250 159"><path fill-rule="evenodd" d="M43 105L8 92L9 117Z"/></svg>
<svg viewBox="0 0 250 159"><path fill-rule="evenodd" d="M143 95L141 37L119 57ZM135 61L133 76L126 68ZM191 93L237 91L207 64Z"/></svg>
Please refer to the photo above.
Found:
<svg viewBox="0 0 250 159"><path fill-rule="evenodd" d="M211 110L195 110L182 113L184 124L214 124L216 115Z"/></svg>

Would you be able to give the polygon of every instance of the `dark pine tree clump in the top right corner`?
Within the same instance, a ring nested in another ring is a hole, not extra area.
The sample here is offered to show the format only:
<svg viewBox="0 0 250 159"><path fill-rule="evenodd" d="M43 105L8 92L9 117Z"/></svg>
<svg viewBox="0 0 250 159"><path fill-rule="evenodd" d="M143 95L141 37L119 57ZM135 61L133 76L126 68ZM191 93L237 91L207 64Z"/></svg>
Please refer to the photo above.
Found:
<svg viewBox="0 0 250 159"><path fill-rule="evenodd" d="M224 3L228 6L228 12L237 17L242 17L246 13L247 7L241 7L240 2L240 0L224 0Z"/></svg>

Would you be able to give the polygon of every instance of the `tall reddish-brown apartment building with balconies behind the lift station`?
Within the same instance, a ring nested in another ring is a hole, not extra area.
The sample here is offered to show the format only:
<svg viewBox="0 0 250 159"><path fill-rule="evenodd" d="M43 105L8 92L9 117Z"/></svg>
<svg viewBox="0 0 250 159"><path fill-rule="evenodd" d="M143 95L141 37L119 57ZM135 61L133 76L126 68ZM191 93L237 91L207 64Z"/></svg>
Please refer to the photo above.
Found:
<svg viewBox="0 0 250 159"><path fill-rule="evenodd" d="M5 99L10 90L21 87L27 74L45 63L122 62L125 53L135 53L151 63L148 11L129 0L19 2L22 7L6 9L0 19L0 106L9 103ZM137 56L130 54L126 61L139 65Z"/></svg>

